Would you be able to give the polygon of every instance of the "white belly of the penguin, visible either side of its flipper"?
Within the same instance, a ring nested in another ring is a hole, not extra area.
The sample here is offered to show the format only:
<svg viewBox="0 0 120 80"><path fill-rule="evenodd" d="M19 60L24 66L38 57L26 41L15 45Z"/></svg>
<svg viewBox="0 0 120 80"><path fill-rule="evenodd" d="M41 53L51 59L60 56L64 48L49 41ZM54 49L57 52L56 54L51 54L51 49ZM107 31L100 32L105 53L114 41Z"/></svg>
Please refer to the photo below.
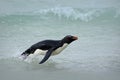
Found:
<svg viewBox="0 0 120 80"><path fill-rule="evenodd" d="M57 55L57 54L59 54L59 53L60 53L61 51L63 51L67 46L68 46L68 44L65 43L62 47L59 47L58 49L56 49L55 51L53 51L52 55ZM45 55L47 51L48 51L48 50L37 49L37 50L34 52L34 54L35 54L35 55Z"/></svg>

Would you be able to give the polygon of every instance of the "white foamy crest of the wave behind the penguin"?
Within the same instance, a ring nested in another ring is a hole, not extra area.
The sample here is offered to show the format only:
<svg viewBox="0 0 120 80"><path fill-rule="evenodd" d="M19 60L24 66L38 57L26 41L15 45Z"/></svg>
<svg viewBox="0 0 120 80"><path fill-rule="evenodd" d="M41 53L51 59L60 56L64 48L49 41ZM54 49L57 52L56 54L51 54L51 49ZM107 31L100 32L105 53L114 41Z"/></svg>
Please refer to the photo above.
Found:
<svg viewBox="0 0 120 80"><path fill-rule="evenodd" d="M98 9L93 10L82 10L82 9L74 9L71 7L55 7L50 9L41 9L40 11L36 11L35 13L40 13L42 15L53 14L55 16L66 17L73 20L82 20L82 21L90 21L94 17L100 16L103 11Z"/></svg>

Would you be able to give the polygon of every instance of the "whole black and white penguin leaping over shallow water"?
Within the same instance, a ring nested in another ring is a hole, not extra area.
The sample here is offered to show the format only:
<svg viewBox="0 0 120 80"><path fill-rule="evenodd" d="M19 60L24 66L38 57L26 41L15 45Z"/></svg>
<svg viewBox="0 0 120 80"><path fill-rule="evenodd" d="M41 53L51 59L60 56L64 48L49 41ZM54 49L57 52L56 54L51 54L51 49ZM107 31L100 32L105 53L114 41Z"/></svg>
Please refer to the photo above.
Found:
<svg viewBox="0 0 120 80"><path fill-rule="evenodd" d="M21 55L26 59L30 54L40 54L45 55L40 64L44 63L51 55L57 55L61 51L63 51L72 41L77 40L78 38L75 36L65 36L62 40L44 40L40 41L26 51L24 51Z"/></svg>

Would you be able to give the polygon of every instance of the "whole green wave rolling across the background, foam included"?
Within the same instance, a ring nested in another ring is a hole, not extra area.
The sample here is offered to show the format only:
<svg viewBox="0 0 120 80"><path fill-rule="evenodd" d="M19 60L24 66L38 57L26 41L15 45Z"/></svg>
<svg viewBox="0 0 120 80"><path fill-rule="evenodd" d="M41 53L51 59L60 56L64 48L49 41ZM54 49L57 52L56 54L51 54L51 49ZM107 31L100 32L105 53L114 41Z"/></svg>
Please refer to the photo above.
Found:
<svg viewBox="0 0 120 80"><path fill-rule="evenodd" d="M41 20L67 20L67 21L117 21L120 20L120 10L118 8L102 9L80 9L72 7L54 7L41 9L33 12L4 14L0 16L0 23L25 23L41 22Z"/></svg>

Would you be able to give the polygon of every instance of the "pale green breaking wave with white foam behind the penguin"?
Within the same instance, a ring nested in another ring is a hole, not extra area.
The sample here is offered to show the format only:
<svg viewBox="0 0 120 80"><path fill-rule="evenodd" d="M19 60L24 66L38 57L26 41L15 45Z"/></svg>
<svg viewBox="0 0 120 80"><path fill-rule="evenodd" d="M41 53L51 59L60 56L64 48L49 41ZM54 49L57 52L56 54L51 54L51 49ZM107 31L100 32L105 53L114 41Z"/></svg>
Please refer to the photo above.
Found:
<svg viewBox="0 0 120 80"><path fill-rule="evenodd" d="M80 9L72 7L54 7L47 9L40 9L38 11L16 13L4 15L2 17L6 18L8 16L12 17L24 17L27 19L67 19L67 20L81 20L81 21L91 21L91 20L118 20L120 19L120 10L118 8L100 8L100 9ZM0 20L2 21L2 20Z"/></svg>

